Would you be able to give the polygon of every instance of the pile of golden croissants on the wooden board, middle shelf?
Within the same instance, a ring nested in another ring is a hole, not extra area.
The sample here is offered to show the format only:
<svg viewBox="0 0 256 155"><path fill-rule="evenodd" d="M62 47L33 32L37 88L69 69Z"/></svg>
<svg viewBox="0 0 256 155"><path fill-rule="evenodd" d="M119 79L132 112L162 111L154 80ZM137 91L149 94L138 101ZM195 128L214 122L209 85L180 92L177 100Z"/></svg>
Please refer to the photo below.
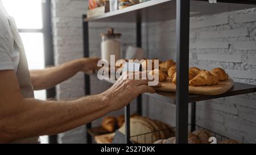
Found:
<svg viewBox="0 0 256 155"><path fill-rule="evenodd" d="M167 60L159 64L159 70L154 69L149 73L151 76L159 75L159 82L163 82L169 77L176 85L176 63L173 60ZM167 73L164 71L168 70ZM196 67L189 68L188 80L190 86L212 86L217 85L220 81L229 79L229 75L222 68L214 68L210 71L201 70Z"/></svg>

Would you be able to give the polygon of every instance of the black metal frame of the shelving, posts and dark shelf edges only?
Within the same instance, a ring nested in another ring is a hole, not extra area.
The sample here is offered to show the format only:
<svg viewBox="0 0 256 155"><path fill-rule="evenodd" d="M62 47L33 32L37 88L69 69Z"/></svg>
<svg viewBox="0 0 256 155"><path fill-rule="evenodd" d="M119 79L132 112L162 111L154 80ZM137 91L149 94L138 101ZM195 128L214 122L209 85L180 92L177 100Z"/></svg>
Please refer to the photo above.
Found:
<svg viewBox="0 0 256 155"><path fill-rule="evenodd" d="M207 1L207 0L191 0L191 1ZM163 99L159 94L147 94L155 98L161 98L166 102L176 103L176 142L179 144L188 143L188 103L191 103L191 131L196 129L196 100L207 100L213 98L220 98L238 94L246 94L256 92L256 86L250 87L246 90L241 90L240 93L234 91L230 94L217 95L213 97L194 97L188 94L188 68L189 68L189 18L190 18L190 0L176 0L176 63L177 63L177 87L176 87L176 97ZM225 3L241 3L256 5L254 0L246 1L224 1L220 0L218 2ZM123 12L124 14L126 12ZM115 14L113 14L114 18ZM102 18L110 18L111 16L102 16ZM89 57L89 32L88 32L88 22L93 21L83 18L83 30L84 30L84 56ZM98 20L99 18L95 18ZM141 47L141 16L137 15L137 46ZM107 80L108 81L108 80ZM108 81L113 83L114 81ZM238 83L239 84L239 83ZM245 85L241 85L245 86ZM90 95L90 74L85 74L85 95ZM138 114L142 114L142 97L137 98L137 111ZM125 123L126 123L126 143L130 143L130 106L125 107ZM86 124L86 128L91 128L92 124ZM92 137L87 133L86 143L92 143Z"/></svg>

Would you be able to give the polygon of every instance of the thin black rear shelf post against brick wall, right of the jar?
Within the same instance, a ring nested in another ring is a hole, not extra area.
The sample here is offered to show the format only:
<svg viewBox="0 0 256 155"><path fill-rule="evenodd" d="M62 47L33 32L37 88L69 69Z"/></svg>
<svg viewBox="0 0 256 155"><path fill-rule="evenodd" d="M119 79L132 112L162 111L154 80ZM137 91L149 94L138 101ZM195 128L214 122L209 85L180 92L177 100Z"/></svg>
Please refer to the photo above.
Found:
<svg viewBox="0 0 256 155"><path fill-rule="evenodd" d="M139 15L136 23L136 30L137 47L142 47L141 17ZM137 114L142 115L142 95L137 97Z"/></svg>

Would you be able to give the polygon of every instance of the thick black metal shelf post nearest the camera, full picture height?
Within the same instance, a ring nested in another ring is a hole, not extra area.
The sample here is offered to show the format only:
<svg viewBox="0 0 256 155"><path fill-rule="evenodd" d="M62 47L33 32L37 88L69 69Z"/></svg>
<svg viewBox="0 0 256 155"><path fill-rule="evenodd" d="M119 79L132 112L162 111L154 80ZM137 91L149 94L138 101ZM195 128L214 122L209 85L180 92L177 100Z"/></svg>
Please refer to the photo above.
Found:
<svg viewBox="0 0 256 155"><path fill-rule="evenodd" d="M190 0L177 0L176 5L176 143L187 144Z"/></svg>

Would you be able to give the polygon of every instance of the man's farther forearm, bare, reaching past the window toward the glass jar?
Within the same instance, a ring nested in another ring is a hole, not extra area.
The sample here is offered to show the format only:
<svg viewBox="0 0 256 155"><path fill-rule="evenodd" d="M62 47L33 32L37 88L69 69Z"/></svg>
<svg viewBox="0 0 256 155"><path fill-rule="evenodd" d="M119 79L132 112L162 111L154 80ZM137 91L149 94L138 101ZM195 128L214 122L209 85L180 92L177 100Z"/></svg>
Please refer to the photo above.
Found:
<svg viewBox="0 0 256 155"><path fill-rule="evenodd" d="M80 61L74 60L65 64L46 68L43 70L31 70L31 82L34 90L49 89L68 78L74 76L80 70Z"/></svg>

